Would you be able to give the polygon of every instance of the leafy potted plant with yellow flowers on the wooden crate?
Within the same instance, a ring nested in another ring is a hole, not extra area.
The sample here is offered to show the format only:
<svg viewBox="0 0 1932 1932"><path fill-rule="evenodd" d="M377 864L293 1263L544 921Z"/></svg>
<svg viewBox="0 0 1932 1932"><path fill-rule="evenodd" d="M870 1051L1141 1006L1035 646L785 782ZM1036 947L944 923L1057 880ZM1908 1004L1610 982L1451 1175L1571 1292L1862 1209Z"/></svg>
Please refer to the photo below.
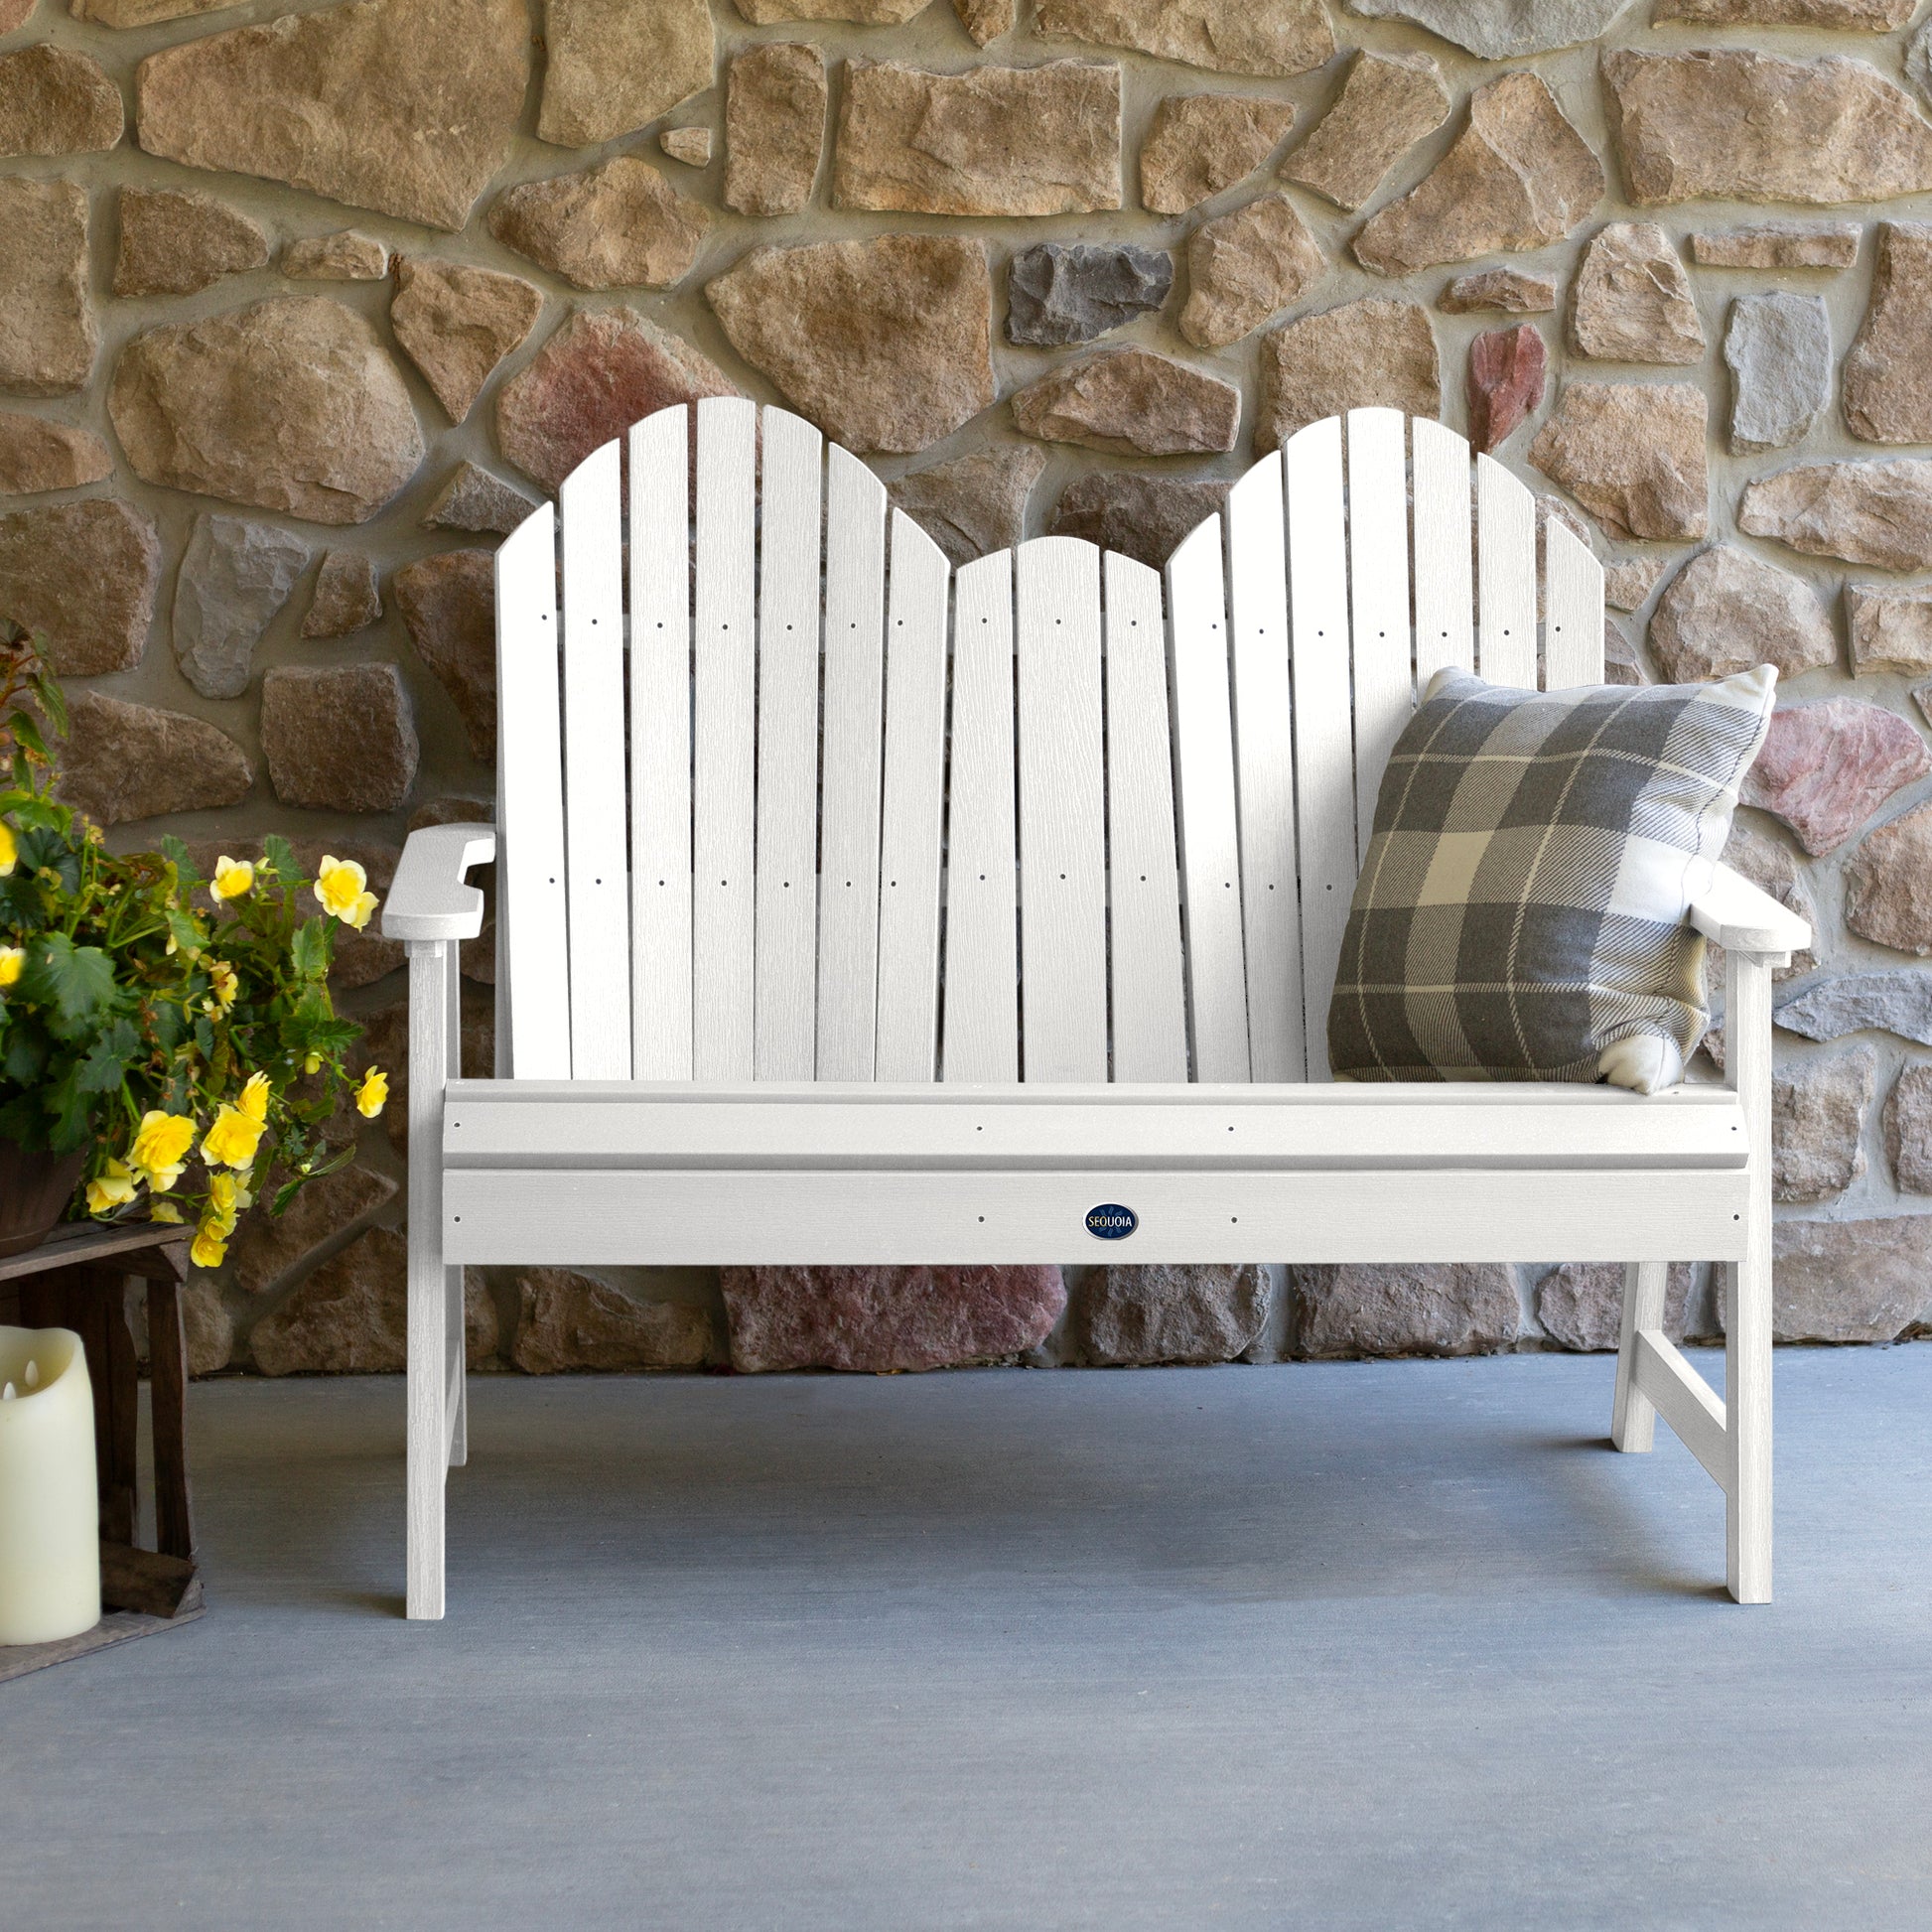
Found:
<svg viewBox="0 0 1932 1932"><path fill-rule="evenodd" d="M334 1010L340 925L375 895L359 866L309 879L284 838L203 879L178 838L116 856L52 796L66 707L39 641L0 626L0 1254L68 1209L189 1223L218 1267L236 1219L355 1157L328 1124L361 1028Z"/></svg>

